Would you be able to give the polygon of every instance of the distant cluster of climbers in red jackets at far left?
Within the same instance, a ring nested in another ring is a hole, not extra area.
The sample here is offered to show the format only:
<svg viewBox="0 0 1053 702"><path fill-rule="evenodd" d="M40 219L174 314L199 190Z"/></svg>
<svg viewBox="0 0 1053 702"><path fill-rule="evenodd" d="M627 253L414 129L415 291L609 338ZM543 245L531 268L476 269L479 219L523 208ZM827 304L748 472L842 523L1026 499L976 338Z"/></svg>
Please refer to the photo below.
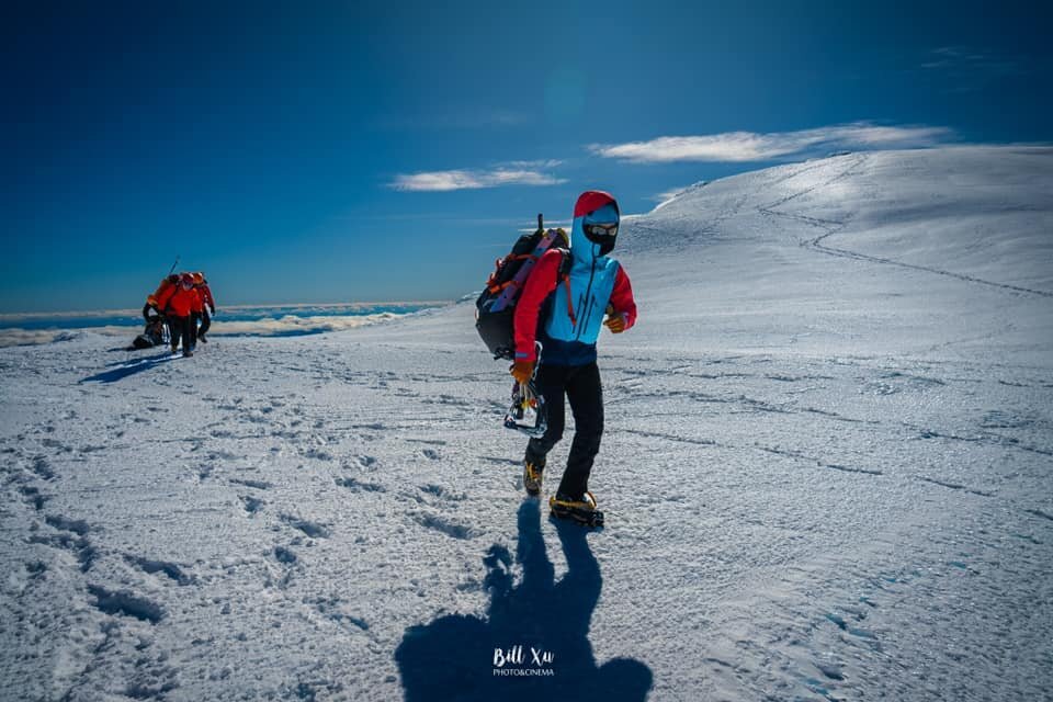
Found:
<svg viewBox="0 0 1053 702"><path fill-rule="evenodd" d="M216 302L204 273L173 273L165 278L152 295L146 298L143 317L146 319L147 342L157 346L162 341L162 326L167 326L172 353L182 342L183 355L191 356L197 341L207 343L205 333L212 326L212 315L216 314ZM143 348L136 339L134 344Z"/></svg>

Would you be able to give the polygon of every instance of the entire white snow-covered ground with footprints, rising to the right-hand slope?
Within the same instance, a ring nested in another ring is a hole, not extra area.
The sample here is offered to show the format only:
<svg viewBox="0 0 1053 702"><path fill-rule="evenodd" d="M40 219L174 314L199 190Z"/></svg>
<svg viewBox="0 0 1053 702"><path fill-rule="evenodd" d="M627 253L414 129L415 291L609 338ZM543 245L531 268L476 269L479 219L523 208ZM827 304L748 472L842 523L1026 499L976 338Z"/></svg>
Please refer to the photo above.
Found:
<svg viewBox="0 0 1053 702"><path fill-rule="evenodd" d="M469 301L0 350L0 698L1053 699L1053 149L784 166L621 239L598 532L523 499Z"/></svg>

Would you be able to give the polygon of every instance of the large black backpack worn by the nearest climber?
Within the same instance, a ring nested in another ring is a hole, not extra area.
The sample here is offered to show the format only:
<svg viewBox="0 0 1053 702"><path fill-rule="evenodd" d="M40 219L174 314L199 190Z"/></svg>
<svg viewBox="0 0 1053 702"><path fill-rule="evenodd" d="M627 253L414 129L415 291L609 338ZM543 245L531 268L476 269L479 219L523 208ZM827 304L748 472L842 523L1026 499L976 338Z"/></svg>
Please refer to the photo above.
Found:
<svg viewBox="0 0 1053 702"><path fill-rule="evenodd" d="M556 248L563 252L559 278L566 278L570 263L566 248L568 244L566 231L546 230L542 216L537 215L537 230L519 237L508 256L496 261L486 288L475 301L475 328L495 359L516 359L516 303L534 264L548 249Z"/></svg>

